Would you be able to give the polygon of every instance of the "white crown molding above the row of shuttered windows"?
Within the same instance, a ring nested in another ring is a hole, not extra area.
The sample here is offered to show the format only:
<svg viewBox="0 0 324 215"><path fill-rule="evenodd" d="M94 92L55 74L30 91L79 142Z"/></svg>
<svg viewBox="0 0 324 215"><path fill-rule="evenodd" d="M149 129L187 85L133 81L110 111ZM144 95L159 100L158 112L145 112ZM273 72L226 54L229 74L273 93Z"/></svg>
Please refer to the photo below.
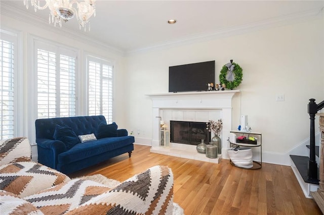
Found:
<svg viewBox="0 0 324 215"><path fill-rule="evenodd" d="M1 2L1 7L0 7L0 12L2 15L6 15L8 17L14 18L16 20L28 23L28 24L32 24L36 27L42 28L42 29L46 29L47 31L50 32L54 32L57 33L57 28L54 27L53 25L49 25L48 21L45 20L41 20L36 16L27 14L25 11L22 11L20 9L14 8L12 7L10 4L8 4L7 2ZM118 54L118 55L124 55L125 51L122 49L119 49L117 47L111 46L107 43L98 41L98 40L94 40L94 38L86 36L86 35L81 35L79 32L77 31L72 31L69 30L67 28L65 28L64 26L62 26L60 28L60 32L65 34L65 35L69 35L81 42L90 44L90 45L94 45L96 47L99 48L104 48L104 49L109 49L110 51Z"/></svg>

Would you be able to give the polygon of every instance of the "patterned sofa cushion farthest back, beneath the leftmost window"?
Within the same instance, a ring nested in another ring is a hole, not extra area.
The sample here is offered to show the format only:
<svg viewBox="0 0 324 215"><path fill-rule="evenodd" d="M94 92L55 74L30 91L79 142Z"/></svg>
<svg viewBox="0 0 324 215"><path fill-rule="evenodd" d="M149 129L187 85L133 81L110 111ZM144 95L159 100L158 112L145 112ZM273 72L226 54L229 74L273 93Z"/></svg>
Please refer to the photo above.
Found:
<svg viewBox="0 0 324 215"><path fill-rule="evenodd" d="M0 164L5 165L14 162L29 161L31 147L25 137L16 137L8 140L0 140Z"/></svg>

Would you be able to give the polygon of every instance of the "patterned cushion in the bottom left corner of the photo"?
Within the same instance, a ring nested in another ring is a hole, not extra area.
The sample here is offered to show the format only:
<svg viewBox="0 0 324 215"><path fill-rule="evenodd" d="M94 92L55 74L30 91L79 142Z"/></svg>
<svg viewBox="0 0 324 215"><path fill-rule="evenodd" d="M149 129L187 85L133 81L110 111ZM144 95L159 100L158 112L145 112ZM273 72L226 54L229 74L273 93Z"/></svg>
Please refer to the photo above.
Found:
<svg viewBox="0 0 324 215"><path fill-rule="evenodd" d="M44 214L19 196L0 190L1 214Z"/></svg>

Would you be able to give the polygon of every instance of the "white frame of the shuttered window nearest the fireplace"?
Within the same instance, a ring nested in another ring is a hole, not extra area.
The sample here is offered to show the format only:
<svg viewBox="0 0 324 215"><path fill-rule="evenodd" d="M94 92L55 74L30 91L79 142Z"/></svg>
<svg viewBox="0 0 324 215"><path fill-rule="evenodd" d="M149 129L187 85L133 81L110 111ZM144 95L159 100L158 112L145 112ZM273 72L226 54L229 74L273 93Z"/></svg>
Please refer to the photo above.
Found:
<svg viewBox="0 0 324 215"><path fill-rule="evenodd" d="M112 112L112 115L111 115L111 118L107 119L106 117L106 121L107 123L112 123L113 122L113 112L114 112L114 109L113 109L113 106L114 106L114 63L113 61L111 60L106 60L106 59L103 59L103 58L99 58L99 57L95 57L94 55L86 55L86 81L87 81L87 91L86 91L86 100L87 100L87 106L86 106L86 113L87 115L89 115L89 62L90 61L93 61L93 62L96 62L96 63L99 63L99 64L105 64L105 65L108 65L108 66L111 66L112 67L112 78L110 79L111 83L112 83L112 92L111 92L111 112ZM102 93L102 92L101 92ZM101 101L102 102L102 101ZM100 115L103 115L102 114L102 107L101 107L101 113Z"/></svg>

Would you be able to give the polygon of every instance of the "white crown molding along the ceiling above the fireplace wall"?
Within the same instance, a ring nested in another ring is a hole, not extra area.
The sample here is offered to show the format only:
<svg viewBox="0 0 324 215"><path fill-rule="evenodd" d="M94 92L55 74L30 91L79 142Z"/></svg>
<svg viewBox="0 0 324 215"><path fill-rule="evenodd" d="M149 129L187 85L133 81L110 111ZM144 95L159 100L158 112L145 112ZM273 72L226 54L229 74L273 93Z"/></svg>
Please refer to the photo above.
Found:
<svg viewBox="0 0 324 215"><path fill-rule="evenodd" d="M239 34L260 31L267 28L280 27L280 26L305 22L309 20L319 19L323 14L323 8L290 14L287 16L276 17L273 19L263 20L263 21L249 23L245 25L223 28L213 32L194 34L188 37L183 37L181 39L163 41L144 48L127 50L126 55L132 55L140 52L147 52L153 50L167 49L178 45L193 44L201 41L208 41L208 40L213 40L218 38L235 36Z"/></svg>

